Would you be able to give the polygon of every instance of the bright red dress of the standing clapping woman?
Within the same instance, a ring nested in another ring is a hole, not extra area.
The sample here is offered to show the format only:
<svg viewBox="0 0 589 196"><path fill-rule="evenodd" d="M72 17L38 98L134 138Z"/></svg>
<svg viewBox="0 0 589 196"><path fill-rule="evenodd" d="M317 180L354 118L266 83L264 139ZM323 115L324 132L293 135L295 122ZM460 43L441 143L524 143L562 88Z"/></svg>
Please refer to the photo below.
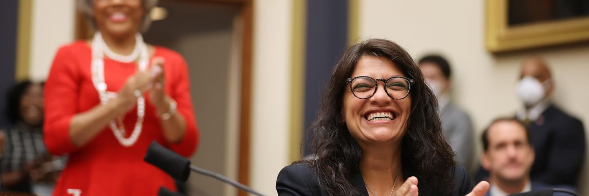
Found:
<svg viewBox="0 0 589 196"><path fill-rule="evenodd" d="M145 119L137 142L123 147L108 126L90 142L75 147L69 134L70 120L75 114L100 104L91 79L91 48L77 41L59 48L45 83L44 140L47 150L55 155L69 155L67 165L55 186L54 195L155 195L160 186L176 190L174 181L163 171L143 161L151 141L157 141L184 157L190 157L198 144L198 131L190 98L188 70L177 52L155 47L151 56L163 57L164 90L177 102L177 111L186 121L186 134L179 144L170 144L161 131L155 108L145 96ZM150 63L151 64L151 63ZM108 91L118 92L137 65L104 59L104 78ZM127 134L137 120L137 108L125 115Z"/></svg>

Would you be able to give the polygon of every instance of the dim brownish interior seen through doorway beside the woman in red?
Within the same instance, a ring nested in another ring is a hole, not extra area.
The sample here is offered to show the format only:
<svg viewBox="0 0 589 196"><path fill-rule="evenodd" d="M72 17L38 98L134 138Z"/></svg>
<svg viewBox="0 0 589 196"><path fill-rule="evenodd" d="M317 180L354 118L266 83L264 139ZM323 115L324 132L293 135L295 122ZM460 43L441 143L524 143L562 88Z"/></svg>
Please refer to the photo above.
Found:
<svg viewBox="0 0 589 196"><path fill-rule="evenodd" d="M188 64L201 138L191 163L235 180L241 78L239 61L234 59L239 59L241 48L234 46L240 39L233 39L239 35L233 23L239 10L191 2L162 1L159 5L170 15L152 22L144 39L179 52ZM187 186L187 195L236 195L231 185L196 173L190 175Z"/></svg>

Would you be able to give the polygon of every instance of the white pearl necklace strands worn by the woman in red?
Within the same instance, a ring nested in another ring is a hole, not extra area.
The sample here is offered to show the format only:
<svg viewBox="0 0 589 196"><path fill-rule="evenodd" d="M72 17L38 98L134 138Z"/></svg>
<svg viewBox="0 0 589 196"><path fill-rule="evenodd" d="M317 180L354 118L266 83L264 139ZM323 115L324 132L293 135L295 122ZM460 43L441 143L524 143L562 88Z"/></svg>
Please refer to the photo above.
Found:
<svg viewBox="0 0 589 196"><path fill-rule="evenodd" d="M135 52L138 51L138 52ZM91 64L91 71L92 71L92 83L94 87L98 91L98 95L100 97L100 103L102 105L107 104L109 99L113 99L117 97L117 92L107 91L107 84L104 81L104 55L106 54L108 58L111 58L115 61L119 62L133 62L137 57L139 57L138 67L139 71L145 71L147 69L148 64L148 54L147 54L147 45L143 42L143 37L141 34L135 35L135 48L133 49L133 53L128 56L123 56L119 54L115 54L104 42L102 39L102 35L100 32L96 32L94 34L94 39L92 40L92 64ZM135 54L137 53L137 54ZM114 134L115 138L117 138L118 142L123 145L124 147L131 147L135 142L137 142L137 138L141 134L141 127L143 125L143 118L145 117L145 98L143 95L137 96L137 122L135 122L135 127L133 128L133 132L131 132L130 137L124 138L123 134L125 133L124 125L121 127L117 126L115 120L110 122L110 128L112 133Z"/></svg>

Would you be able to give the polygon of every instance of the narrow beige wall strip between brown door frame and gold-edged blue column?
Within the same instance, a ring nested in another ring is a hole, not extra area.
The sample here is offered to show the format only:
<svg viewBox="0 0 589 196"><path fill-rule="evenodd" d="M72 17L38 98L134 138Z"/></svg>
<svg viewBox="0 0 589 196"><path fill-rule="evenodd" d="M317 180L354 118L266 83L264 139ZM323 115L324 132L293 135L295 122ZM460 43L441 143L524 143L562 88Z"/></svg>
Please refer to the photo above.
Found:
<svg viewBox="0 0 589 196"><path fill-rule="evenodd" d="M276 177L289 165L292 0L254 1L250 185L276 195Z"/></svg>

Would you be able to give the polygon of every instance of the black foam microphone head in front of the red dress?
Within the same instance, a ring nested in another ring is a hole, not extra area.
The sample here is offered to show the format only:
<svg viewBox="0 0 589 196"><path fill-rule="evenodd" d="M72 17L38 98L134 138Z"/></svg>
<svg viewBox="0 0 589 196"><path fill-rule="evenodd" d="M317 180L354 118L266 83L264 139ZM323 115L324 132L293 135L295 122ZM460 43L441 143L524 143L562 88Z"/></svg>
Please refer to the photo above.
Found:
<svg viewBox="0 0 589 196"><path fill-rule="evenodd" d="M163 170L172 178L186 182L190 175L190 161L153 141L147 148L145 162Z"/></svg>

